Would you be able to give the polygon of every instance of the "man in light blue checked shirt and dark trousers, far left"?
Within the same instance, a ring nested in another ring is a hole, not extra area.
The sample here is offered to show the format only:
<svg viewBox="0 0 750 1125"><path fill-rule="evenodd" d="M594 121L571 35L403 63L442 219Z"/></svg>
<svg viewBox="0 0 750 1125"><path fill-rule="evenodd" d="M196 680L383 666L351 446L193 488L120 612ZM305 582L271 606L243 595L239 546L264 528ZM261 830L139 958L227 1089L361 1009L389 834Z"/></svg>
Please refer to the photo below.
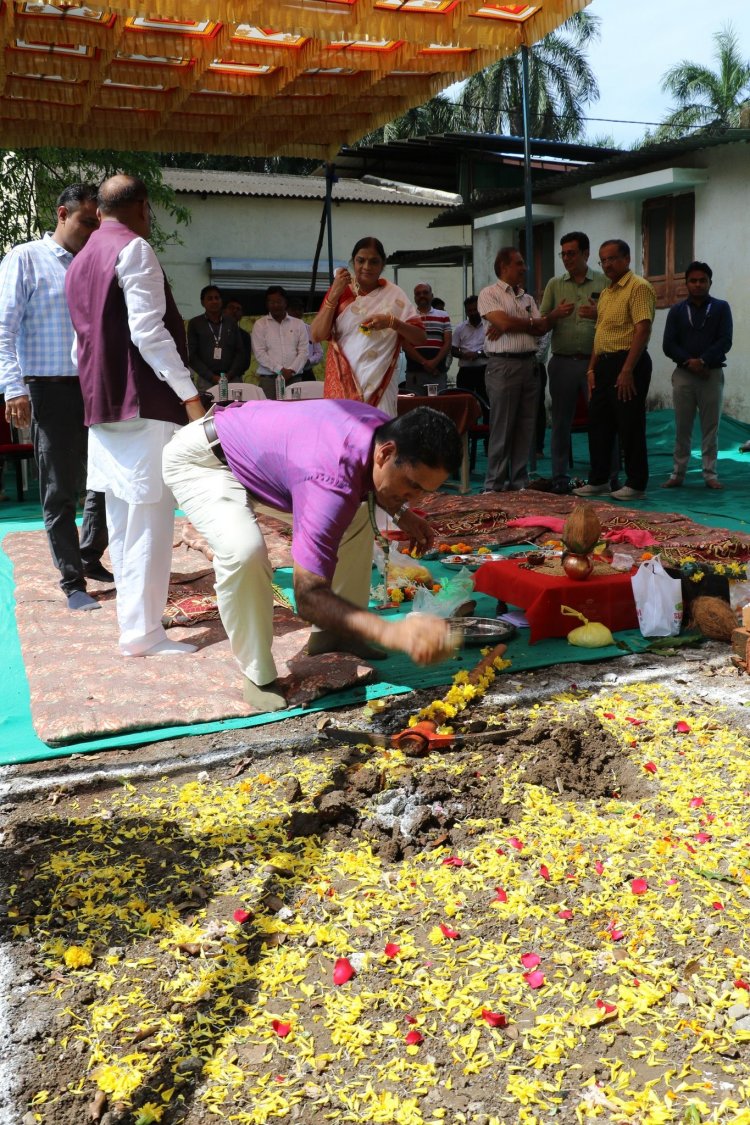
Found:
<svg viewBox="0 0 750 1125"><path fill-rule="evenodd" d="M16 246L0 264L0 392L7 421L17 429L31 426L44 525L67 608L98 610L87 577L114 579L101 565L107 547L102 493L87 493L80 540L75 525L87 429L65 300L67 267L99 226L97 189L73 183L56 207L52 234Z"/></svg>

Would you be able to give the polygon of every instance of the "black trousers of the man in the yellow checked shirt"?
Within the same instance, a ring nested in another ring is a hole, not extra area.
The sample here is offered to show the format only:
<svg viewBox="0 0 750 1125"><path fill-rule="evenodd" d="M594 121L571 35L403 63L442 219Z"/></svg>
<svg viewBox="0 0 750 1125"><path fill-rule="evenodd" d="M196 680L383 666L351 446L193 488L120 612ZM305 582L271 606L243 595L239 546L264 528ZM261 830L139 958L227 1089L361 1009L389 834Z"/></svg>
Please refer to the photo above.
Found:
<svg viewBox="0 0 750 1125"><path fill-rule="evenodd" d="M596 361L596 381L588 403L589 484L603 485L609 479L612 453L620 438L625 484L643 490L649 483L645 398L651 384L651 357L644 351L639 359L633 369L635 395L623 402L617 397L615 382L626 357L626 351L605 352Z"/></svg>

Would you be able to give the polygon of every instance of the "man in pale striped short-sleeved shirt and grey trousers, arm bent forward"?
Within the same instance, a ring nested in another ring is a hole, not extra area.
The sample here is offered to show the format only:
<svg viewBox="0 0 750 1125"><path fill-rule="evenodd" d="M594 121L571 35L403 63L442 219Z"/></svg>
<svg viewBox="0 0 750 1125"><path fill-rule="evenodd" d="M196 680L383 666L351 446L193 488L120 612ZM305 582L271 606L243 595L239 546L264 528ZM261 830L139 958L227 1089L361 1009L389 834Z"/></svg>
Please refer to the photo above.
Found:
<svg viewBox="0 0 750 1125"><path fill-rule="evenodd" d="M528 450L536 424L540 384L536 376L539 339L573 306L561 302L540 316L531 294L523 289L526 263L515 246L504 246L495 259L495 285L479 294L479 313L487 321L487 394L489 442L486 492L521 492L528 484Z"/></svg>

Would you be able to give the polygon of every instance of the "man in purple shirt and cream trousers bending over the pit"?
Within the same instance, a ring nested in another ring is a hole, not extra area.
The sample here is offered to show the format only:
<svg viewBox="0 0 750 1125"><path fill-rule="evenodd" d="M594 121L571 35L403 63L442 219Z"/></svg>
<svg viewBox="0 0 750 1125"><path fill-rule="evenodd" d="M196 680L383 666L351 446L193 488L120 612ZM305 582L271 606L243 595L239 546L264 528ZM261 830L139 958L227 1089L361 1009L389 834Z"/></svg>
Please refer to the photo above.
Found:
<svg viewBox="0 0 750 1125"><path fill-rule="evenodd" d="M387 621L367 609L374 506L414 544L434 534L409 510L457 472L453 422L423 407L389 418L364 403L249 402L186 426L164 450L164 480L214 550L219 613L244 675L245 701L262 711L287 702L271 655L271 566L255 513L291 515L297 609L313 622L308 652L382 654L371 642L433 664L452 649L448 622Z"/></svg>

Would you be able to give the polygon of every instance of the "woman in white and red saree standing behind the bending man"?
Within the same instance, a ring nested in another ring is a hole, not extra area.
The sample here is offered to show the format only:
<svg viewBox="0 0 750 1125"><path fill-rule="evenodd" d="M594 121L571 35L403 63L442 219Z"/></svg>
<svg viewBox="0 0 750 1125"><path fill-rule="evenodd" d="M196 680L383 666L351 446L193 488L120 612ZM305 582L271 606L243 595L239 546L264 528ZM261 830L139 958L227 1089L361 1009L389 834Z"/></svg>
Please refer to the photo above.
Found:
<svg viewBox="0 0 750 1125"><path fill-rule="evenodd" d="M382 243L360 238L352 270L336 270L310 332L314 340L329 341L325 397L369 403L392 416L401 341L419 346L426 338L412 300L380 276L385 266Z"/></svg>

